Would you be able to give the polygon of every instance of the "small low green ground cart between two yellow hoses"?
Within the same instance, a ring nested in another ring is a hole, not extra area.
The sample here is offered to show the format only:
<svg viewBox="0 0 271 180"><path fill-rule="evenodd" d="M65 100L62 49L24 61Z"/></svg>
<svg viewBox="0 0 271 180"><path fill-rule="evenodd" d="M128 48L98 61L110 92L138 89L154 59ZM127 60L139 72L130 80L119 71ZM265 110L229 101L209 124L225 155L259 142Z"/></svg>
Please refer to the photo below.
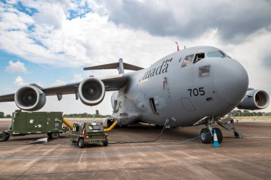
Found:
<svg viewBox="0 0 271 180"><path fill-rule="evenodd" d="M80 148L85 144L95 144L102 142L103 146L108 146L108 134L104 132L103 124L100 122L78 122L73 123L73 131L70 134L71 141L77 143Z"/></svg>

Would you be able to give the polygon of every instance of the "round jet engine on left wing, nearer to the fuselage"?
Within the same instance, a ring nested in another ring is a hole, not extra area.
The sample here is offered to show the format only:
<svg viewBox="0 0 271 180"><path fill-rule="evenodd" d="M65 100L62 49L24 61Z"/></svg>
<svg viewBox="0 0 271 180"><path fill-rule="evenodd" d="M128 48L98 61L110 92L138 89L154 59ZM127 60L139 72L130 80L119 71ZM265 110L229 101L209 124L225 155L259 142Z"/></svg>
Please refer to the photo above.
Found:
<svg viewBox="0 0 271 180"><path fill-rule="evenodd" d="M85 105L98 105L103 101L106 94L106 88L101 80L97 78L86 78L78 88L78 94L81 102Z"/></svg>

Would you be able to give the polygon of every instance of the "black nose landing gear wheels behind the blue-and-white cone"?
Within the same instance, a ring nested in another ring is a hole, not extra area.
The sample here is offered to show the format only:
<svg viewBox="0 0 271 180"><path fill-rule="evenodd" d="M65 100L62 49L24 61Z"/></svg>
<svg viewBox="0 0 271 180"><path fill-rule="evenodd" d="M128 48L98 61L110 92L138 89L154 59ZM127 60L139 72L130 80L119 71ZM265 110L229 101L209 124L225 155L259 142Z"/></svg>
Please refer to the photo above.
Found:
<svg viewBox="0 0 271 180"><path fill-rule="evenodd" d="M211 129L211 130L210 130ZM218 137L218 143L221 143L223 141L223 134L221 130L218 127L212 128L210 125L208 127L203 128L200 130L200 142L203 144L210 144L213 142L213 132L216 132L216 135Z"/></svg>

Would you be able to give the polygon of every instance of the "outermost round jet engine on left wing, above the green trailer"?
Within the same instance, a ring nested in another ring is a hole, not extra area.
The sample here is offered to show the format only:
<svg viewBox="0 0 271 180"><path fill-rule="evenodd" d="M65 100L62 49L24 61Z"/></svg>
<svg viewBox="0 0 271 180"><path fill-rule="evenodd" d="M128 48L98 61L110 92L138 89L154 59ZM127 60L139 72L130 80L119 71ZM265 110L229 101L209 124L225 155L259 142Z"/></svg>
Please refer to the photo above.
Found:
<svg viewBox="0 0 271 180"><path fill-rule="evenodd" d="M14 96L16 106L21 110L40 110L46 103L46 95L33 85L26 85L17 90Z"/></svg>

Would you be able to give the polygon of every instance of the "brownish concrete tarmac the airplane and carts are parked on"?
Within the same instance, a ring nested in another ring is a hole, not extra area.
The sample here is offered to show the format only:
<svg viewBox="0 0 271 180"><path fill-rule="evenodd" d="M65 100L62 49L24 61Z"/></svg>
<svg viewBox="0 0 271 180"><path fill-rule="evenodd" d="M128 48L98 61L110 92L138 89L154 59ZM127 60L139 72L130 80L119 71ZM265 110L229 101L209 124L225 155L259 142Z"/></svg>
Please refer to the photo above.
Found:
<svg viewBox="0 0 271 180"><path fill-rule="evenodd" d="M10 124L0 121L0 131ZM165 129L157 142L83 149L68 134L44 144L29 142L46 134L11 137L0 142L0 179L271 179L271 123L237 123L243 139L221 127L224 139L217 148L200 143L201 128ZM150 141L160 131L133 125L113 129L108 139Z"/></svg>

